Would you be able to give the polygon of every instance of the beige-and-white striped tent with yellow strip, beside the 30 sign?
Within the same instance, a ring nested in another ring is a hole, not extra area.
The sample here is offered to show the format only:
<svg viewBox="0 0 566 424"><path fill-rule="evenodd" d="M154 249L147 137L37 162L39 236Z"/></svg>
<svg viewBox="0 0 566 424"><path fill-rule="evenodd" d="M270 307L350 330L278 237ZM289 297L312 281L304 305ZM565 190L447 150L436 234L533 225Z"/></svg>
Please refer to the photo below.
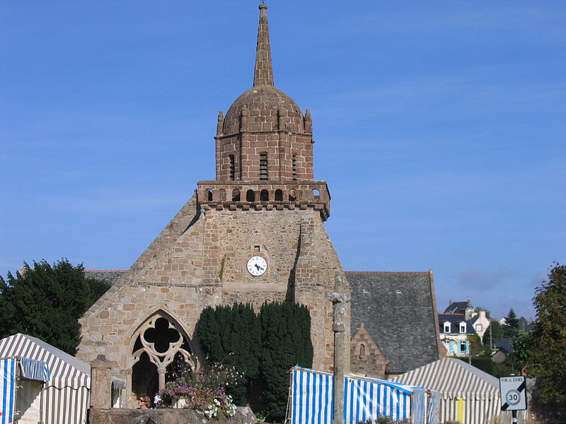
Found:
<svg viewBox="0 0 566 424"><path fill-rule="evenodd" d="M463 360L442 358L391 380L438 391L439 423L489 424L498 416L511 422L510 413L501 411L499 379ZM519 411L518 416L524 414Z"/></svg>

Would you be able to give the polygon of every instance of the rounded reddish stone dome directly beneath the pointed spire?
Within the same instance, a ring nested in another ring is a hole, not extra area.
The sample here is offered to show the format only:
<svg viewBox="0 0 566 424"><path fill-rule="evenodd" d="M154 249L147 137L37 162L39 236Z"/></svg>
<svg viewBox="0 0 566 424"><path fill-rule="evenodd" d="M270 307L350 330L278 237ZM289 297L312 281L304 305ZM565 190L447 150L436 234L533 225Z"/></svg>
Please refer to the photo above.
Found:
<svg viewBox="0 0 566 424"><path fill-rule="evenodd" d="M238 97L226 112L224 134L240 130L242 112L246 109L250 132L280 129L304 133L304 116L293 99L273 86L255 86Z"/></svg>

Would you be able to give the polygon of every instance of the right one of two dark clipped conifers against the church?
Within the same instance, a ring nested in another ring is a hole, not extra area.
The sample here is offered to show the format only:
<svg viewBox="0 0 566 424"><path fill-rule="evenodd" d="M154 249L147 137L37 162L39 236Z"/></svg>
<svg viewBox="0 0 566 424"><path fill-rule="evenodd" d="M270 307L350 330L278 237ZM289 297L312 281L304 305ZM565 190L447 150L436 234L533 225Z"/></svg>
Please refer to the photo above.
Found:
<svg viewBox="0 0 566 424"><path fill-rule="evenodd" d="M311 314L304 305L265 303L260 311L262 328L261 373L270 418L282 421L287 406L289 369L313 366Z"/></svg>

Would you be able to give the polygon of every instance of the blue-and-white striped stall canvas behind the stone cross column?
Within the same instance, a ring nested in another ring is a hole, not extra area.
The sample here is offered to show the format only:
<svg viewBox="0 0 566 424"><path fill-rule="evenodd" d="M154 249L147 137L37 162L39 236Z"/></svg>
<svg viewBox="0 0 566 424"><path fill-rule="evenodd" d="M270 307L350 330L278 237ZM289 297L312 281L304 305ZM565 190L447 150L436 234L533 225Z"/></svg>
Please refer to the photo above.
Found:
<svg viewBox="0 0 566 424"><path fill-rule="evenodd" d="M291 370L292 424L330 424L333 418L333 375L294 367ZM405 420L412 416L411 399L417 387L379 379L345 376L344 420L356 424L379 416ZM419 391L424 396L424 390ZM422 404L422 402L420 402ZM418 412L424 417L424 410ZM417 422L417 421L415 421Z"/></svg>

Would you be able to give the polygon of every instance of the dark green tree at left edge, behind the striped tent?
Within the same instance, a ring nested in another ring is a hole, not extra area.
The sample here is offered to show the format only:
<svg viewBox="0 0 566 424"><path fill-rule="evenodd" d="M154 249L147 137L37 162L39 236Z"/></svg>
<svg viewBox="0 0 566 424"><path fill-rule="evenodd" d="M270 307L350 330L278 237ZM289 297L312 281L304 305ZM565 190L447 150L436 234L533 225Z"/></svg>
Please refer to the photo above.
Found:
<svg viewBox="0 0 566 424"><path fill-rule="evenodd" d="M16 277L0 276L0 338L28 334L74 355L80 342L78 319L110 288L110 283L86 278L82 264L67 259L53 265L42 260Z"/></svg>

